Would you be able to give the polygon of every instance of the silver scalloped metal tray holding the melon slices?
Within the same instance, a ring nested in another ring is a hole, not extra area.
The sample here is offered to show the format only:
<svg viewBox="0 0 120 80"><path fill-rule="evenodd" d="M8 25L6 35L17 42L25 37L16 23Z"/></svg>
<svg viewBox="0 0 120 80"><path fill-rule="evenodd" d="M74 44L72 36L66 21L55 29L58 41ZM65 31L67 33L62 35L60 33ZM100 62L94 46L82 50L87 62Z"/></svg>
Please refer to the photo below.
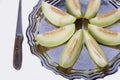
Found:
<svg viewBox="0 0 120 80"><path fill-rule="evenodd" d="M45 0L45 1L66 11L65 0ZM89 0L80 0L80 2L82 5L82 12L84 13ZM117 7L118 6L115 6L114 3L111 3L108 0L102 0L98 14L113 10ZM76 22L76 26L78 23L82 24L81 22L82 21ZM65 44L62 44L55 48L46 48L38 45L34 39L34 34L47 32L55 28L56 27L51 25L44 17L41 10L41 0L39 0L39 2L33 8L33 11L29 15L29 26L26 30L26 35L28 38L28 44L30 46L31 53L36 55L40 59L42 65L45 68L69 80L80 78L95 80L97 78L103 78L107 75L113 74L118 70L118 67L120 66L120 46L110 47L101 44L100 46L106 53L107 58L109 60L109 67L107 67L106 69L100 70L99 68L96 67L96 65L93 63L93 61L88 55L85 44L83 44L81 54L75 65L72 67L72 69L60 68L58 65L58 59ZM120 21L116 22L115 24L107 28L120 32Z"/></svg>

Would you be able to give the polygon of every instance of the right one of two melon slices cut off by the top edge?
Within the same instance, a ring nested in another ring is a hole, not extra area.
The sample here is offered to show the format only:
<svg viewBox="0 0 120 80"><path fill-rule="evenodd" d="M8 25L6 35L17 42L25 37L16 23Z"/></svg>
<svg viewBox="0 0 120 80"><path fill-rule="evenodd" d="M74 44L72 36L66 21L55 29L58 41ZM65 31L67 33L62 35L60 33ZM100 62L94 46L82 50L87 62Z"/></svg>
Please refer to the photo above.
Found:
<svg viewBox="0 0 120 80"><path fill-rule="evenodd" d="M90 19L96 16L101 5L101 0L90 0L84 18Z"/></svg>

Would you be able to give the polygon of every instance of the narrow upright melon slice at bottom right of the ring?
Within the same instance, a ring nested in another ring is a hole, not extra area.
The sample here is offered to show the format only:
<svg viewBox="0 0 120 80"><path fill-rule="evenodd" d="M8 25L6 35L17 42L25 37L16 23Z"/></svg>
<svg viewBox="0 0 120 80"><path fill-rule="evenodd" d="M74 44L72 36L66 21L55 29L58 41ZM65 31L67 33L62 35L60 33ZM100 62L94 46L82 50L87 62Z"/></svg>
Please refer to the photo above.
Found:
<svg viewBox="0 0 120 80"><path fill-rule="evenodd" d="M88 53L91 59L98 67L100 68L106 67L108 65L108 60L103 50L100 48L95 39L92 38L92 36L86 30L84 30L83 34L88 49Z"/></svg>

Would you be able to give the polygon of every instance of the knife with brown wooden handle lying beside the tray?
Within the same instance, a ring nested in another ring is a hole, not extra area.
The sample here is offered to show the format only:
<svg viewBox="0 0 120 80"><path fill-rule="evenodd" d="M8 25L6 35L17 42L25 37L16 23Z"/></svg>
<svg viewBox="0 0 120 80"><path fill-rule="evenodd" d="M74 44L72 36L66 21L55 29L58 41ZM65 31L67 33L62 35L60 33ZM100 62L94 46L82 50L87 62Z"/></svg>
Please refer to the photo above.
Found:
<svg viewBox="0 0 120 80"><path fill-rule="evenodd" d="M16 28L14 53L13 53L13 66L16 70L20 70L21 65L22 65L23 33L22 33L22 5L21 3L22 3L22 0L19 0L17 26L16 26L17 28Z"/></svg>

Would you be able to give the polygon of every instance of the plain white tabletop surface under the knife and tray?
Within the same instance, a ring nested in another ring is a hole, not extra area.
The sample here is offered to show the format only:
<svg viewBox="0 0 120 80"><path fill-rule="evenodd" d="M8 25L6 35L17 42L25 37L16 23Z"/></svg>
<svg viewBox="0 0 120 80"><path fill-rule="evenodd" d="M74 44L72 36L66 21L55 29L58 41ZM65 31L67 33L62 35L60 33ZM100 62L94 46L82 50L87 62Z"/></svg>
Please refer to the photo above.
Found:
<svg viewBox="0 0 120 80"><path fill-rule="evenodd" d="M0 0L0 80L67 80L55 75L52 71L41 66L40 60L31 54L27 44L26 28L28 15L38 0L23 0L23 63L22 68L16 71L13 68L13 47L16 31L17 11L19 0ZM104 79L120 80L120 70Z"/></svg>

